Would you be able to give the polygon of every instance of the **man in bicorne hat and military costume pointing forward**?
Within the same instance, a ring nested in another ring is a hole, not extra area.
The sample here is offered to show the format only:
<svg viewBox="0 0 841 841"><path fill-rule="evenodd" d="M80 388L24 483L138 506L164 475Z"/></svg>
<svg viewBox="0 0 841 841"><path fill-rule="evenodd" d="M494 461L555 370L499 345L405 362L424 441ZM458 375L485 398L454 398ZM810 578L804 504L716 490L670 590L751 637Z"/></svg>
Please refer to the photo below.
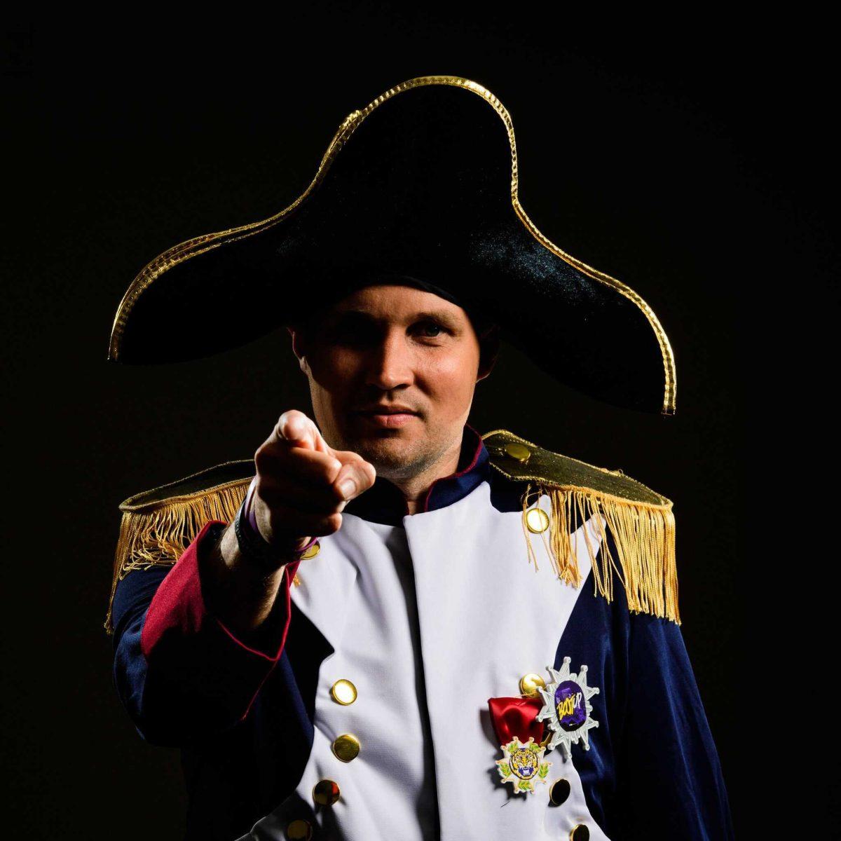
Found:
<svg viewBox="0 0 841 841"><path fill-rule="evenodd" d="M494 203L489 103L510 153L510 120L475 82L392 88L342 124L294 213L176 246L120 305L123 361L285 323L315 416L285 411L252 460L121 505L115 680L141 735L182 748L190 838L732 836L680 636L671 502L467 422L498 331L525 344L553 299L569 320L556 341L598 315L637 363L617 376L570 345L574 383L644 403L653 333L674 409L668 341L642 299L533 226L522 239L516 190L517 218ZM475 170L454 154L470 131ZM477 295L500 254L542 281L529 325L504 287ZM208 288L218 306L234 270L272 296L271 319L238 294L225 335L186 323L179 306ZM175 315L186 336L149 341Z"/></svg>

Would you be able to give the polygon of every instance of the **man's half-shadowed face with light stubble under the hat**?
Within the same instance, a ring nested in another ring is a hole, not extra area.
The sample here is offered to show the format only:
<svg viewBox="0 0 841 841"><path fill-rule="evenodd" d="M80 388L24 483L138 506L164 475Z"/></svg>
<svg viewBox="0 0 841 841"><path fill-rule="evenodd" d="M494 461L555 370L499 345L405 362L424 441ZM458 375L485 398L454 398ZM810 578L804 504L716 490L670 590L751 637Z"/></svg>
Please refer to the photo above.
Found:
<svg viewBox="0 0 841 841"><path fill-rule="evenodd" d="M289 327L315 421L389 479L415 476L461 442L479 368L467 313L421 289L358 289L310 325Z"/></svg>

